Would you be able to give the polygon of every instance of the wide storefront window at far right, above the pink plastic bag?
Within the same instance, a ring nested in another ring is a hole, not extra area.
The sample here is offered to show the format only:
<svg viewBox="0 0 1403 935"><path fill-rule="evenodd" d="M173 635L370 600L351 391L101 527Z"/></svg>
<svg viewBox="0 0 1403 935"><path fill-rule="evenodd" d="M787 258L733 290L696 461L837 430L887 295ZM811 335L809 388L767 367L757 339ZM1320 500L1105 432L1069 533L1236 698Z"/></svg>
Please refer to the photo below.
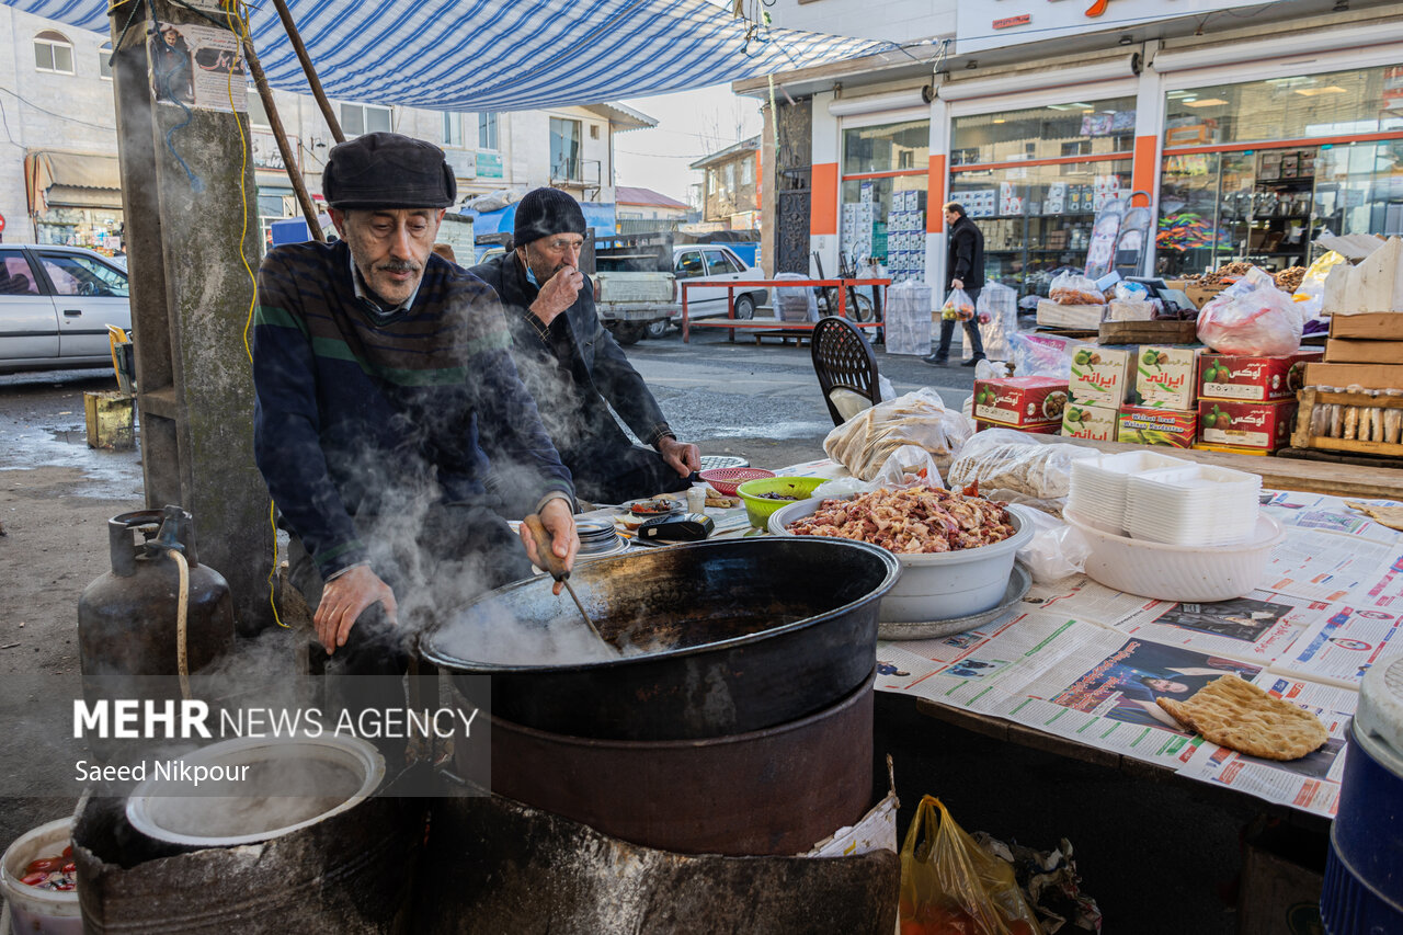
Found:
<svg viewBox="0 0 1403 935"><path fill-rule="evenodd" d="M1403 67L1169 91L1157 271L1284 270L1327 233L1403 232L1399 102ZM1375 133L1400 139L1350 139Z"/></svg>

